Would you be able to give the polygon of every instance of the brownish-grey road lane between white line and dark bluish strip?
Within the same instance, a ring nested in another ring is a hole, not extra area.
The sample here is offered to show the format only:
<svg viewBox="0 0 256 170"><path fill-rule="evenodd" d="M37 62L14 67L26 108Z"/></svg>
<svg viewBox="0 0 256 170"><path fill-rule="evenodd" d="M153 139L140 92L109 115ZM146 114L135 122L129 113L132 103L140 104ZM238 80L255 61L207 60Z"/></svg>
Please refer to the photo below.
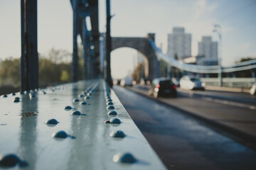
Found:
<svg viewBox="0 0 256 170"><path fill-rule="evenodd" d="M174 100L166 100L166 98L153 98L147 94L145 87L133 86L127 89L141 94L148 98L152 98L158 102L164 103L167 106L176 108L183 113L193 116L194 118L201 120L206 125L213 129L232 137L234 140L247 145L256 150L256 113L255 111L247 111L247 115L241 111L237 113L225 112L216 113L215 110L209 108L203 108L209 101L203 101L201 99L198 102L191 102L191 98L174 98ZM186 103L186 107L183 105ZM212 103L213 107L218 108L218 104ZM250 113L249 113L250 112Z"/></svg>

